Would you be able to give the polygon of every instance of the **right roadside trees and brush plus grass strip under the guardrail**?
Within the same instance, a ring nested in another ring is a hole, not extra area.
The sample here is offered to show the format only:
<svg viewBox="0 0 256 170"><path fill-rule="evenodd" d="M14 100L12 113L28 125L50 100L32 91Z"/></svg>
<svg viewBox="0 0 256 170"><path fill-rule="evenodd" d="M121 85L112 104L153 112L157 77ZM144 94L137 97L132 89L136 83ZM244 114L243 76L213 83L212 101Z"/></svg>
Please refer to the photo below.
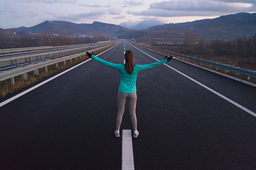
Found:
<svg viewBox="0 0 256 170"><path fill-rule="evenodd" d="M205 40L204 38L198 38L197 34L192 31L186 32L184 37L185 38L179 39L140 37L136 39L136 43L164 51L256 71L256 33L250 37L241 36L234 40ZM135 39L131 41L135 41ZM182 60L182 58L180 59ZM194 63L193 61L187 60L186 62L216 70L216 68L210 68L208 65L201 65L201 63ZM225 72L225 70L221 69L218 69L218 72L256 84L255 78L248 80L246 76L235 75L235 73Z"/></svg>

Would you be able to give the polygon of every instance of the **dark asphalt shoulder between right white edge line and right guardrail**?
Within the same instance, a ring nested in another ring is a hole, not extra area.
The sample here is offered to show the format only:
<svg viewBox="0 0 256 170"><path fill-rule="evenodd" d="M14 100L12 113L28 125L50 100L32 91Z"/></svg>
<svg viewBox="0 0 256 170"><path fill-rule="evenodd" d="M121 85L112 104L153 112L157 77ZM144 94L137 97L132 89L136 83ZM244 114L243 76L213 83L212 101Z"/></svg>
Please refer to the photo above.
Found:
<svg viewBox="0 0 256 170"><path fill-rule="evenodd" d="M146 51L147 54L155 56L154 52L145 50L143 48L137 47L139 50ZM160 57L156 59L161 60ZM256 107L253 101L256 101L256 89L254 87L244 85L240 82L234 82L234 80L227 79L218 74L212 74L208 71L202 71L200 68L195 68L192 65L184 64L179 60L174 60L169 63L174 69L188 75L189 77L199 81L200 83L206 85L207 87L221 93L222 95L228 97L229 99L241 104L242 106L250 109L254 113L256 112Z"/></svg>

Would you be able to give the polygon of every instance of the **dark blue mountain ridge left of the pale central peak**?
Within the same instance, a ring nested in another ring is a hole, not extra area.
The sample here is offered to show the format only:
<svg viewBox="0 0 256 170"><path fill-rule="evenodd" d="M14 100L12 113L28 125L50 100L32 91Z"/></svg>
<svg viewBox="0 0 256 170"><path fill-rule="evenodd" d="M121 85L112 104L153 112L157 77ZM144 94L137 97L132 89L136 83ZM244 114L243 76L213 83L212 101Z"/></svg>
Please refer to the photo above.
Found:
<svg viewBox="0 0 256 170"><path fill-rule="evenodd" d="M94 32L100 32L101 34L117 37L118 31L129 31L129 29L117 26L114 24L106 24L101 22L94 22L93 24L75 24L64 21L45 21L33 27L20 27L10 29L13 31L23 31L27 33L49 33L58 35L91 35Z"/></svg>

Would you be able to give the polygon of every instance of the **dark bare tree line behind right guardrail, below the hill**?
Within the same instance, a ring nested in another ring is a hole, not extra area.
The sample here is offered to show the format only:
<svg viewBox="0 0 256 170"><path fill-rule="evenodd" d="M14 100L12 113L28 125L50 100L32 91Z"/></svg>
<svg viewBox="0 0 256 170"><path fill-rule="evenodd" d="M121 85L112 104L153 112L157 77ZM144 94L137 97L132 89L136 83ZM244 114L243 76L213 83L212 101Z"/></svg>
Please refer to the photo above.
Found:
<svg viewBox="0 0 256 170"><path fill-rule="evenodd" d="M186 55L212 55L256 59L256 33L250 37L241 36L234 40L205 40L205 38L197 38L197 34L192 31L186 32L184 37L183 43L180 44L163 43L159 45L154 41L152 46Z"/></svg>

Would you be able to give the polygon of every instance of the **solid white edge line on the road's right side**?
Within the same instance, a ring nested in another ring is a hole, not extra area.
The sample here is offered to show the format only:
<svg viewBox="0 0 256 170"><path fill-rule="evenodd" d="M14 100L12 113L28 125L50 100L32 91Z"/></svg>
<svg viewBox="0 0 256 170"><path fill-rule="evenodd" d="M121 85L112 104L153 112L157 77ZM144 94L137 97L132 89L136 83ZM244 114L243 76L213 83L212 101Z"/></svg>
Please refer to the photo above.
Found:
<svg viewBox="0 0 256 170"><path fill-rule="evenodd" d="M131 44L130 44L130 45L131 45ZM133 45L131 45L131 46L133 46ZM134 46L133 46L133 47L134 47ZM134 47L134 48L135 48L135 49L137 49L137 50L139 50L139 51L141 51L140 49L138 49L138 48L136 48L136 47ZM144 54L146 54L146 55L148 55L147 53L145 53L145 52L143 52L143 51L141 51L141 52L142 52L142 53L144 53ZM156 61L159 61L159 60L157 60L156 58L154 58L154 57L152 57L152 56L150 56L150 55L148 55L148 56L149 56L149 57L151 57L151 58L153 58L153 59L155 59ZM242 109L242 110L246 111L247 113L251 114L252 116L256 117L256 113L254 113L253 111L251 111L251 110L249 110L249 109L247 109L247 108L243 107L242 105L240 105L240 104L236 103L235 101L233 101L233 100L231 100L231 99L229 99L229 98L227 98L227 97L223 96L222 94L220 94L220 93L216 92L215 90L213 90L213 89L211 89L211 88L209 88L209 87L207 87L207 86L203 85L202 83L200 83L200 82L196 81L195 79L193 79L193 78L191 78L191 77L187 76L186 74L184 74L184 73L182 73L182 72L180 72L180 71L176 70L175 68L170 67L170 66L169 66L169 65L167 65L167 64L164 64L164 65L165 65L165 66L167 66L167 67L169 67L169 68L171 68L171 69L173 69L174 71L176 71L176 72L180 73L181 75L183 75L183 76L187 77L188 79L190 79L190 80L194 81L195 83L197 83L197 84L199 84L200 86L202 86L202 87L206 88L207 90L209 90L209 91L213 92L214 94L216 94L216 95L220 96L221 98L223 98L223 99L227 100L228 102L230 102L230 103L232 103L233 105L235 105L235 106L239 107L240 109Z"/></svg>

